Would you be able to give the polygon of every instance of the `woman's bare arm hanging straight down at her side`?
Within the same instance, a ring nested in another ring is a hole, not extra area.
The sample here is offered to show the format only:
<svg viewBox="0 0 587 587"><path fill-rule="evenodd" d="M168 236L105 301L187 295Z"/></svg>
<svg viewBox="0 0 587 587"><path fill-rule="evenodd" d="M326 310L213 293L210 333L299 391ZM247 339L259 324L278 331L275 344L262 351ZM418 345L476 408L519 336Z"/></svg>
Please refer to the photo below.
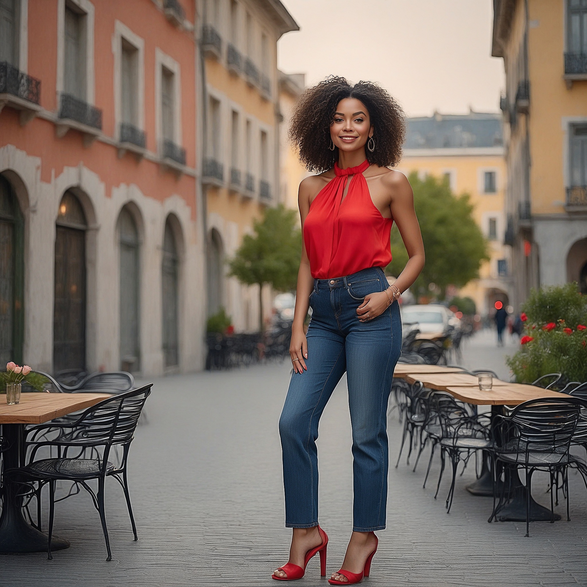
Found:
<svg viewBox="0 0 587 587"><path fill-rule="evenodd" d="M310 261L303 242L303 223L310 210L310 195L316 193L316 178L308 177L299 184L298 207L302 220L302 258L298 271L298 286L296 288L294 323L292 323L292 339L289 345L289 355L294 365L295 373L303 373L306 369L304 359L308 358L308 342L303 332L303 322L310 307L310 294L314 287L314 279L310 272Z"/></svg>

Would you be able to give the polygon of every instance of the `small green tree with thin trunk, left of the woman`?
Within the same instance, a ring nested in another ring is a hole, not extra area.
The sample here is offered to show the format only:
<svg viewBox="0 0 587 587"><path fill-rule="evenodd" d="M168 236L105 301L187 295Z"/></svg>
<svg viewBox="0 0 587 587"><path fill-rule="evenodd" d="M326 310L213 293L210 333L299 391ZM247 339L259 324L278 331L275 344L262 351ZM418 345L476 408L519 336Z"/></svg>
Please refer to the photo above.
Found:
<svg viewBox="0 0 587 587"><path fill-rule="evenodd" d="M262 220L253 224L253 235L245 235L234 258L230 275L247 285L259 285L259 330L263 332L262 288L269 284L277 291L295 289L302 232L296 228L295 210L279 204L266 208Z"/></svg>

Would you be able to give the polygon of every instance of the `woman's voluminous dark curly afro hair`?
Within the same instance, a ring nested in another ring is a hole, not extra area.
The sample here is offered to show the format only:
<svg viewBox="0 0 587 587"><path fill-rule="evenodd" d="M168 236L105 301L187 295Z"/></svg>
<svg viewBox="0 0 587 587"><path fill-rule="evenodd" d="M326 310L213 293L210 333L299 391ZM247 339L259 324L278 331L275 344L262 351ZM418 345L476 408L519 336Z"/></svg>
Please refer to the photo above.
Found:
<svg viewBox="0 0 587 587"><path fill-rule="evenodd" d="M338 161L338 147L330 151L330 124L340 100L356 98L367 110L373 126L375 150L365 150L370 164L393 167L402 157L406 133L404 113L399 104L382 87L372 82L351 85L344 77L329 76L307 89L300 97L289 139L298 149L300 161L309 171L322 173Z"/></svg>

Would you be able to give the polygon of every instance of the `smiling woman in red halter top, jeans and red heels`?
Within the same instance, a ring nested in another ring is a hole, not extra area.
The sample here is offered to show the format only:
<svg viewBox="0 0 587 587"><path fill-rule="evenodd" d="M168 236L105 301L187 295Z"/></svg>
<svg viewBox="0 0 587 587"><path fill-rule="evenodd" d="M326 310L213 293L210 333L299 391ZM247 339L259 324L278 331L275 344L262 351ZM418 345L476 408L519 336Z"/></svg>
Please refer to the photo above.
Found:
<svg viewBox="0 0 587 587"><path fill-rule="evenodd" d="M293 528L288 564L272 578L291 581L321 555L326 574L328 537L318 525L318 421L347 373L353 429L353 532L340 571L329 583L357 583L369 575L385 528L387 401L402 348L397 299L420 274L424 246L411 187L390 170L401 156L402 110L369 82L352 86L329 77L306 90L290 131L301 161L316 176L299 186L302 259L292 340L294 373L279 420L285 485L285 525ZM409 261L389 286L396 222ZM312 306L307 335L303 322Z"/></svg>

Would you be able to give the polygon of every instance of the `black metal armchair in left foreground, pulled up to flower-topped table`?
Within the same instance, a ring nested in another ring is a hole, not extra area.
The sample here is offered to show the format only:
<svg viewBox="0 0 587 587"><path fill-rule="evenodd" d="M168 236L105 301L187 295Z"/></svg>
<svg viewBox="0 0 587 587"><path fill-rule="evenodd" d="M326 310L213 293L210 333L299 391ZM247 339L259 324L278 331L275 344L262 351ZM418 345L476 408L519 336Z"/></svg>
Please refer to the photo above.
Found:
<svg viewBox="0 0 587 587"><path fill-rule="evenodd" d="M127 481L127 460L130 443L133 440L134 430L143 409L144 403L151 393L150 383L140 389L121 393L109 399L103 400L85 410L77 420L71 423L40 424L27 430L25 438L25 450L32 447L28 464L25 467L9 469L5 475L17 483L38 484L33 493L36 495L38 505L38 528L41 529L41 491L43 485L49 484L49 540L48 558L51 555L51 536L53 532L53 514L55 508L55 482L58 480L73 481L82 485L92 496L94 507L100 514L106 550L107 561L112 560L110 541L106 527L104 514L104 482L106 477L114 477L123 488L129 510L130 523L133 528L134 539L137 540L136 525L134 524L133 511L130 504L129 486ZM37 436L54 434L54 438L45 438L37 441ZM123 446L123 457L119 466L115 466L108 460L110 450L114 445ZM38 450L43 446L58 446L61 454L58 458L45 458L35 461ZM102 454L97 458L68 457L70 448L79 449L80 454L87 448L102 448ZM122 477L122 478L121 478ZM97 480L97 495L87 484L87 481Z"/></svg>

